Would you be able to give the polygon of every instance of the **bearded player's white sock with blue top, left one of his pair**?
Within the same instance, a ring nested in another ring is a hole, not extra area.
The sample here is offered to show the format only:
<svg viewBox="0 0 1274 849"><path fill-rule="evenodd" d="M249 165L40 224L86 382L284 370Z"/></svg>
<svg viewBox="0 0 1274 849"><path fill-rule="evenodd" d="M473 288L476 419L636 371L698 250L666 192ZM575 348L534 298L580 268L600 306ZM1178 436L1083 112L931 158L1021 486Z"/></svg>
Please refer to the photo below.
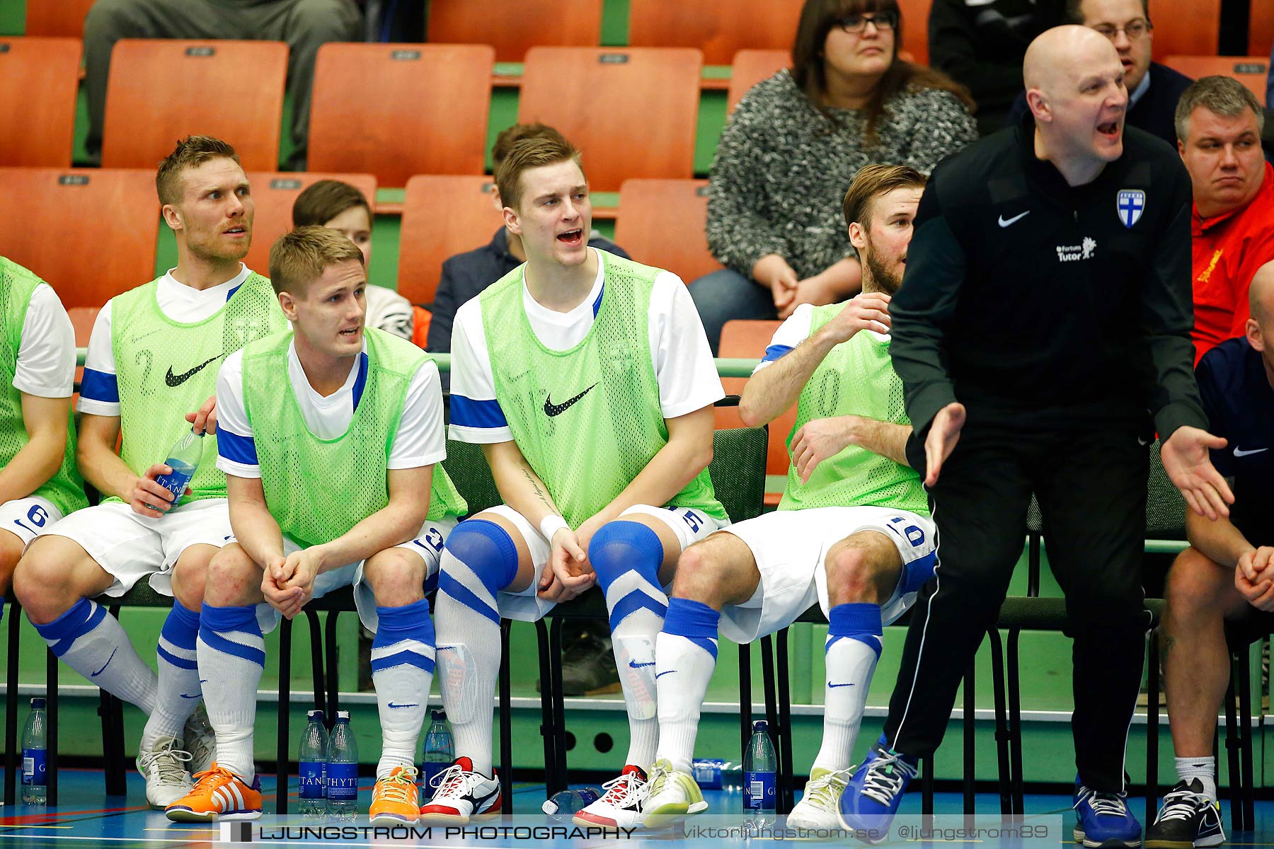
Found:
<svg viewBox="0 0 1274 849"><path fill-rule="evenodd" d="M659 684L659 754L673 769L691 771L703 698L716 668L721 614L703 602L673 598L655 650Z"/></svg>

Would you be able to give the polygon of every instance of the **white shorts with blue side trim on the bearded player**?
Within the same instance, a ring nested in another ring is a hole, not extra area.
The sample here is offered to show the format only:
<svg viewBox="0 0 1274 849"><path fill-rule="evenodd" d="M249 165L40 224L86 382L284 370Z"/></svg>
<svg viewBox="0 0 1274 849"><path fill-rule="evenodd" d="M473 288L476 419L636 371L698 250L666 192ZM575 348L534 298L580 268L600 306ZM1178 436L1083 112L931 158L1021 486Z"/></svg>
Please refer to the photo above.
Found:
<svg viewBox="0 0 1274 849"><path fill-rule="evenodd" d="M772 634L809 610L815 602L828 612L828 550L859 531L879 531L893 540L902 556L902 574L889 601L880 605L883 625L907 612L916 592L934 577L935 535L929 517L887 507L819 507L775 510L726 531L743 540L761 572L752 598L721 611L721 635L750 643Z"/></svg>

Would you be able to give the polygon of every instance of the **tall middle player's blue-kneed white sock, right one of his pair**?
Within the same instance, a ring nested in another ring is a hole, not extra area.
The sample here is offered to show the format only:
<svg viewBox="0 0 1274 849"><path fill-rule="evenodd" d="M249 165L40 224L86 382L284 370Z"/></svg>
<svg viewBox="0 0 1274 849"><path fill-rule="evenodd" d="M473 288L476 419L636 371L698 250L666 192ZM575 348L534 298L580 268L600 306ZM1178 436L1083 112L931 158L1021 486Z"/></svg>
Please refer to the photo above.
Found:
<svg viewBox="0 0 1274 849"><path fill-rule="evenodd" d="M664 544L641 522L608 522L589 542L589 563L606 596L615 668L628 706L624 762L648 770L659 742L655 638L668 610L668 596L659 586Z"/></svg>

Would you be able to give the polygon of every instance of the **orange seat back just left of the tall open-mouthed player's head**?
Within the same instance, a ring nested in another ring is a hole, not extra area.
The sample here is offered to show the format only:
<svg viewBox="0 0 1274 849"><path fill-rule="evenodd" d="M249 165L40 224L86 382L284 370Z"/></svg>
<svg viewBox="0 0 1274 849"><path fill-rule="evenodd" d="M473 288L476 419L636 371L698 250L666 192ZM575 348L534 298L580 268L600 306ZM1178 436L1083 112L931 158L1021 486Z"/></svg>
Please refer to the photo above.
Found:
<svg viewBox="0 0 1274 849"><path fill-rule="evenodd" d="M399 294L429 304L442 261L490 242L501 228L490 177L417 176L408 181L399 238ZM494 280L492 281L494 283Z"/></svg>

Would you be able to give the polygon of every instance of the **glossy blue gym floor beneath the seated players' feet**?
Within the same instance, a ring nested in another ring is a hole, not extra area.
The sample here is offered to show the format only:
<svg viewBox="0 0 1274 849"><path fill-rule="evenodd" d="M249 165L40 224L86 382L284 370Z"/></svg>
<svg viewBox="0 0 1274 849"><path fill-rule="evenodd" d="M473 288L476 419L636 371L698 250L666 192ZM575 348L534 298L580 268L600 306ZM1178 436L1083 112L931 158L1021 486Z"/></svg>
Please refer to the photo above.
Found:
<svg viewBox="0 0 1274 849"><path fill-rule="evenodd" d="M363 779L366 785L359 788L359 811L366 813L367 804L371 801L371 779ZM59 793L60 804L56 808L39 808L22 804L20 802L15 807L0 807L0 849L6 845L24 846L31 849L69 849L70 846L111 846L112 849L130 849L132 846L152 846L152 848L180 848L180 846L206 846L220 841L222 831L218 825L203 826L203 825L177 825L168 822L168 820L159 811L150 811L144 804L139 804L145 798L145 790L141 782L141 776L135 771L130 771L127 776L127 797L107 797L103 790L102 773L98 770L87 769L62 769L59 773ZM265 793L265 810L269 813L274 807L274 780L262 779L262 789ZM290 788L292 803L290 808L296 810L296 787ZM735 821L741 822L741 794L739 790L707 790L705 797L708 801L711 813L721 815L735 815ZM547 825L549 818L540 813L540 803L544 801L544 787L541 784L517 784L513 789L513 811L517 817L516 822L519 825ZM1131 799L1133 811L1140 817L1144 810L1144 799ZM957 793L939 793L935 797L935 808L939 815L959 815L963 810L962 797ZM1070 799L1063 796L1027 796L1026 797L1026 810L1028 821L1034 818L1037 822L1056 822L1056 817L1061 817L1063 834L1057 835L1056 840L1049 840L1047 843L1038 841L1023 841L1014 843L1013 845L1065 845L1070 844ZM978 821L980 824L994 824L998 821L995 812L999 811L999 797L994 794L980 794L977 797L977 811L981 812ZM1222 812L1226 817L1226 825L1228 829L1229 824L1229 806L1222 802ZM902 811L903 815L919 815L920 813L920 793L908 793L906 801L903 802ZM1051 815L1051 816L1050 816ZM696 817L692 822L698 821L707 822L705 817ZM958 821L958 818L957 818ZM273 825L279 825L276 820L264 820L262 825L271 822ZM494 821L498 824L498 821ZM726 822L724 818L713 817L712 822L721 825ZM289 817L288 825L299 826L303 822L299 817ZM363 821L362 825L366 825ZM1274 802L1259 801L1256 803L1256 829L1249 832L1240 832L1236 835L1227 834L1227 845L1229 846L1271 846L1274 848ZM446 839L440 829L434 830L436 834L433 839L429 840L406 840L406 841L390 841L386 839L368 838L366 840L321 840L321 839L294 839L294 840L271 840L266 844L257 845L385 845L387 843L394 843L395 845L417 845L417 846L455 846L455 845L498 845L498 846L530 846L535 845L540 849L553 849L555 846L601 846L601 845L614 845L617 841L614 838L594 838L594 839L581 839L581 840L564 840L564 839L534 839L534 840L519 840L516 838L507 839L482 839L479 836L471 838L454 838ZM693 843L696 845L748 845L749 841L744 839L717 839L711 843L706 840L684 841L675 836L668 834L654 834L642 835L638 832L634 835L634 840L624 840L623 843L633 844L657 844L661 846L683 845L685 843ZM750 843L754 844L772 844L776 840L755 840ZM893 840L891 845L903 845L903 844L916 844L926 843L926 845L936 845L938 841L920 841L920 840ZM953 840L947 841L944 845L956 844L981 844L984 846L992 845L1009 845L998 844L995 840Z"/></svg>

